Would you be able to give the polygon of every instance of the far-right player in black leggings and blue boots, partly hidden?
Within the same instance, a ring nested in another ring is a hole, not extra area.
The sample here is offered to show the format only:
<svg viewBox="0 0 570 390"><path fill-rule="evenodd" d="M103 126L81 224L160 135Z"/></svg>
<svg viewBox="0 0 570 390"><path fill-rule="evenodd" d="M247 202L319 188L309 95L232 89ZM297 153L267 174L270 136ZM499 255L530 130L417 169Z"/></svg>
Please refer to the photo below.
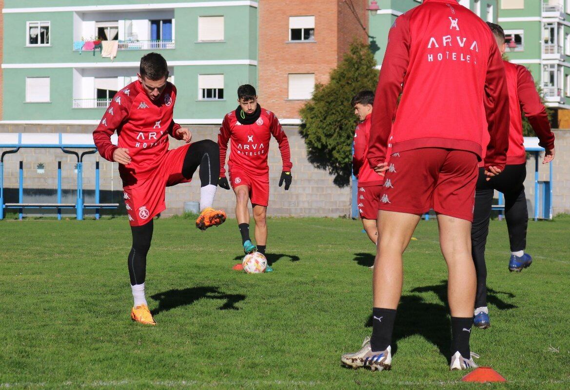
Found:
<svg viewBox="0 0 570 390"><path fill-rule="evenodd" d="M499 25L487 22L504 54L507 44L504 31ZM505 219L508 239L511 245L510 271L522 271L532 263L529 254L524 253L527 244L528 209L524 193L524 178L527 176L527 158L523 144L522 113L528 118L532 129L545 149L543 164L554 159L554 135L550 129L548 115L536 91L531 72L522 65L504 61L510 103L507 165L503 173L491 180L485 180L484 168L479 168L479 180L475 191L475 212L471 227L473 260L477 270L477 295L475 298L475 326L486 329L491 326L487 308L487 267L485 245L489 232L489 218L494 190L504 194ZM480 166L482 166L480 164Z"/></svg>

